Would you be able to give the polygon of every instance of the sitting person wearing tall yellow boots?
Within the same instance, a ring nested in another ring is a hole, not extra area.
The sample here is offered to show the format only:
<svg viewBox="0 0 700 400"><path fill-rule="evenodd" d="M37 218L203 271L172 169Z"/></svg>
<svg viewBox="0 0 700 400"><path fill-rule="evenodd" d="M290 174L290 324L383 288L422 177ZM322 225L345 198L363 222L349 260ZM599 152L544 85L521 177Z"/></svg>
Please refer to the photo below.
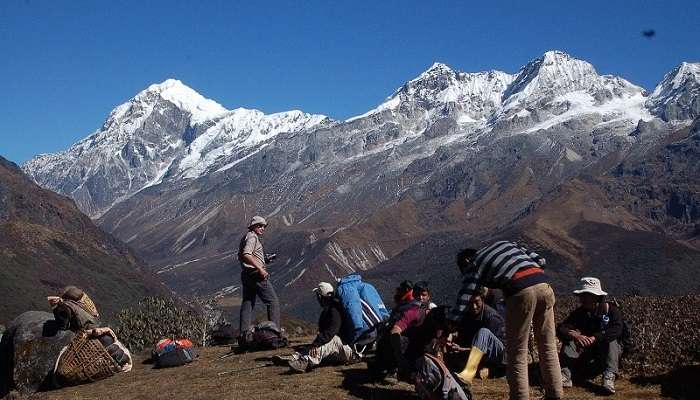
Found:
<svg viewBox="0 0 700 400"><path fill-rule="evenodd" d="M458 367L461 372L456 376L469 385L480 365L503 370L506 364L505 322L496 310L484 303L486 293L487 290L482 288L471 297L457 325L457 340L449 346L452 352L469 352L466 363L463 357L456 357L453 361L463 363Z"/></svg>

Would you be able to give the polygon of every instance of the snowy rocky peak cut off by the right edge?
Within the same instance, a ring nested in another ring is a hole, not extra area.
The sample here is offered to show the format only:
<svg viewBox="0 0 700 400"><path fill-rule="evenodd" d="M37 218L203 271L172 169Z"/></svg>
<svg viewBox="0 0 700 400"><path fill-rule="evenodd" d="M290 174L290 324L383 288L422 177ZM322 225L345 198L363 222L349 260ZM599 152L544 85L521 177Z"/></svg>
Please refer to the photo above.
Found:
<svg viewBox="0 0 700 400"><path fill-rule="evenodd" d="M667 121L700 115L700 63L681 63L656 86L647 107Z"/></svg>

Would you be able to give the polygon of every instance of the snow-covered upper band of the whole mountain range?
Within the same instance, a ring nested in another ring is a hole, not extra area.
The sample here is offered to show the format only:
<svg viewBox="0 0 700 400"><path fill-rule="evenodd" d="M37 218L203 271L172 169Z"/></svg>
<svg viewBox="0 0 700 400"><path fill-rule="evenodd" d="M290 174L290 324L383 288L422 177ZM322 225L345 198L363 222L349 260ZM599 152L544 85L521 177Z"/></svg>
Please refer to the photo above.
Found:
<svg viewBox="0 0 700 400"><path fill-rule="evenodd" d="M391 171L454 143L476 146L482 138L541 130L562 138L587 135L572 144L584 151L592 147L594 131L596 143L604 146L614 137L634 140L628 135L639 121L700 115L698 71L700 64L679 65L647 97L642 88L598 75L590 63L560 51L546 52L516 75L465 73L435 63L346 123L297 110L229 111L169 79L116 107L100 129L68 150L39 155L24 169L96 216L146 187L231 169L275 146L281 133L327 128L324 138L336 147L321 154L304 144L299 149L304 162L328 157L329 164L347 165L390 151L391 164L384 168Z"/></svg>

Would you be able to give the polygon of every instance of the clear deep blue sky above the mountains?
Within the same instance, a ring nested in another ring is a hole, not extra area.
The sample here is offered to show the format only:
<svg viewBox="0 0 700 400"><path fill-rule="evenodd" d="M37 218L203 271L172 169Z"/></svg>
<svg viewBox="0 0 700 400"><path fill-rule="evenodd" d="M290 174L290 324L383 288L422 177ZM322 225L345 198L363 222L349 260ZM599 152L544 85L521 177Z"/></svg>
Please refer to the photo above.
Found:
<svg viewBox="0 0 700 400"><path fill-rule="evenodd" d="M2 0L0 155L65 149L171 77L229 109L344 119L434 61L513 73L559 49L651 90L700 59L698 20L697 0Z"/></svg>

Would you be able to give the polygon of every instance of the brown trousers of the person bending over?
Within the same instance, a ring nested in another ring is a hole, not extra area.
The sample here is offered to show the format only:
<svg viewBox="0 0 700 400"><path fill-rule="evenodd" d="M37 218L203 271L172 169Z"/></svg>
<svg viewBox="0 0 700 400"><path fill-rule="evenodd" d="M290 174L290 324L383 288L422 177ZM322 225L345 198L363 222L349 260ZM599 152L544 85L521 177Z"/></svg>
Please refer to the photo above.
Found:
<svg viewBox="0 0 700 400"><path fill-rule="evenodd" d="M525 288L506 298L506 368L511 400L527 400L527 341L532 323L540 356L540 372L548 399L564 396L554 323L554 291L547 283Z"/></svg>

